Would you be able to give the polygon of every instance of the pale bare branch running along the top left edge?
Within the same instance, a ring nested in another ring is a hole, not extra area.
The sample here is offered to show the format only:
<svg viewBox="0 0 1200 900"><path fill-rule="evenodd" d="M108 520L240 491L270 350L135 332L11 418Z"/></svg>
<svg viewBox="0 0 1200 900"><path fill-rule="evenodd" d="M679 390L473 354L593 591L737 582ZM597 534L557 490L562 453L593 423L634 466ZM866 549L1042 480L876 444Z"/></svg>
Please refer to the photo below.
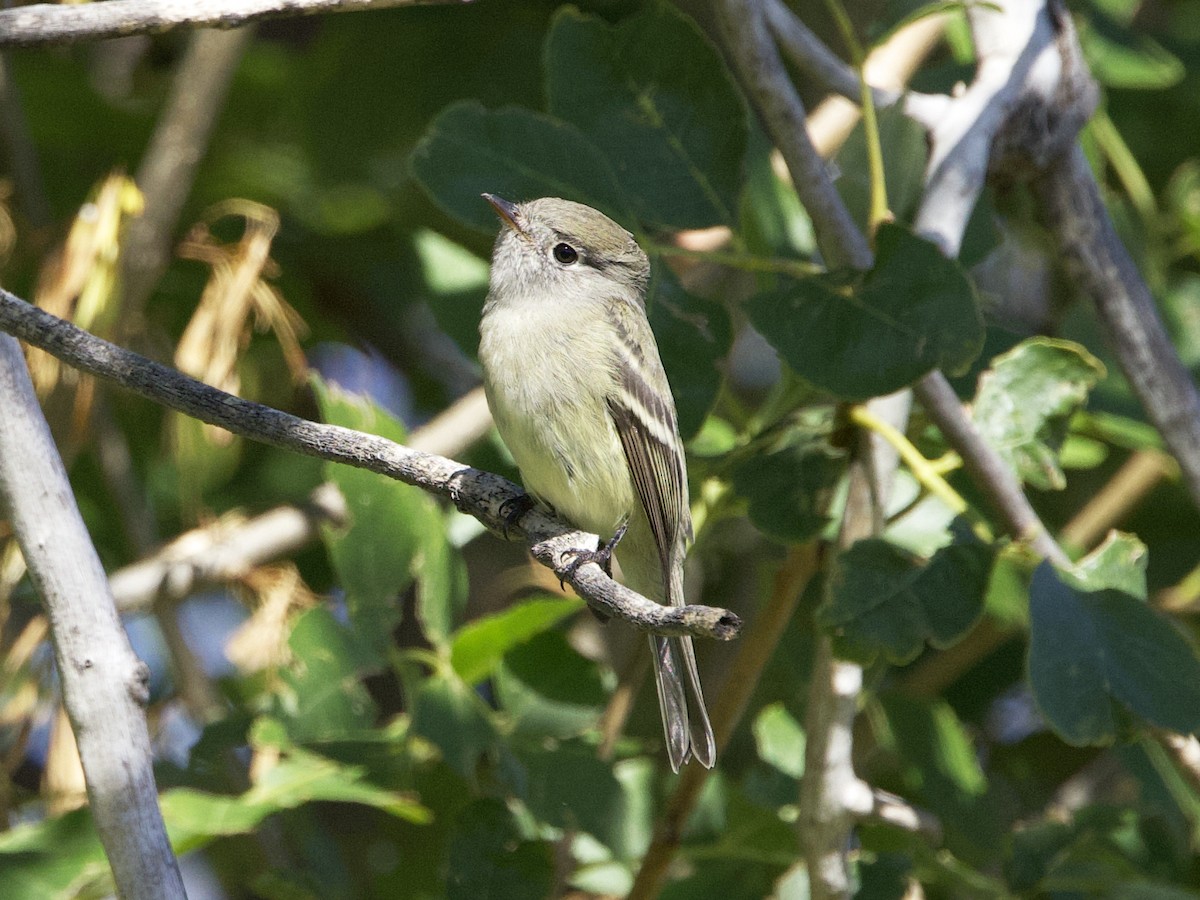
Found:
<svg viewBox="0 0 1200 900"><path fill-rule="evenodd" d="M235 28L263 19L470 0L106 0L0 11L0 47L78 43L175 28Z"/></svg>

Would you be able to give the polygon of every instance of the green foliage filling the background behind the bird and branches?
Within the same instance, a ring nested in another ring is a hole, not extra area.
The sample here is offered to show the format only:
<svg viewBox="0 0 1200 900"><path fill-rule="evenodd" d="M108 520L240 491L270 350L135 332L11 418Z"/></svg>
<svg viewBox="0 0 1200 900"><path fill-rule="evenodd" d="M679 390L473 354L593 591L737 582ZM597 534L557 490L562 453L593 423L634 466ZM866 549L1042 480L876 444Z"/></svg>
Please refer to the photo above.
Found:
<svg viewBox="0 0 1200 900"><path fill-rule="evenodd" d="M917 6L852 13L875 40ZM797 8L841 46L824 5ZM1091 0L1073 13L1104 86L1105 118L1085 146L1195 368L1200 157L1184 124L1200 121L1200 12L1187 1ZM276 208L272 283L307 324L319 374L295 384L277 343L258 335L240 356L242 392L403 440L475 379L496 230L479 193L558 194L607 211L652 257L649 314L690 440L694 601L752 619L788 548L828 539L840 514L842 404L935 366L964 376L955 384L977 425L1054 530L1130 455L1158 451L1069 286L1051 272L1049 311L1031 324L1013 311L1032 282L972 268L1000 253L1009 272L1051 266L1018 188L984 199L961 260L911 232L925 152L904 118L881 116L898 221L877 234L875 268L822 271L811 223L773 170L708 26L706 6L664 0L512 0L259 26L176 236L232 197ZM917 86L970 78L964 35L952 23L948 49ZM16 236L2 260L7 288L32 296L92 187L114 168L136 170L186 41L7 54L53 217L30 221L29 185L6 182ZM860 218L865 146L859 128L836 163ZM674 244L678 230L713 227L728 234L708 260ZM710 262L724 268L706 272ZM206 277L194 262L174 262L145 322L128 323L128 342L169 358ZM214 895L629 890L677 784L647 686L614 740L600 730L637 671L626 660L629 644L643 652L640 637L600 628L533 577L520 548L415 488L241 440L185 456L162 414L103 394L157 539L209 514L302 502L324 480L348 505L346 526L326 527L292 560L316 596L284 598L274 619L265 592L251 605L265 661L212 664L228 634L208 622L191 637L217 707L182 737L169 725L179 684L151 709L168 828L221 886ZM796 822L820 630L865 665L859 774L942 828L940 839L858 828L859 896L899 898L912 881L930 898L1200 895L1200 791L1153 731L1200 728L1200 517L1184 491L1168 476L1120 523L1130 534L1056 571L1019 544L984 540L1003 529L919 410L908 437L983 528L967 534L961 510L902 470L884 534L828 551L829 568L760 660L662 895L808 896ZM457 456L516 474L492 437ZM137 559L144 548L114 502L124 488L96 442L68 462L106 564ZM28 583L4 601L11 654L37 607ZM203 618L212 607L194 608ZM698 646L710 701L737 647ZM139 650L168 665L161 642ZM103 895L107 866L86 811L47 815L40 793L48 655L10 659L0 894Z"/></svg>

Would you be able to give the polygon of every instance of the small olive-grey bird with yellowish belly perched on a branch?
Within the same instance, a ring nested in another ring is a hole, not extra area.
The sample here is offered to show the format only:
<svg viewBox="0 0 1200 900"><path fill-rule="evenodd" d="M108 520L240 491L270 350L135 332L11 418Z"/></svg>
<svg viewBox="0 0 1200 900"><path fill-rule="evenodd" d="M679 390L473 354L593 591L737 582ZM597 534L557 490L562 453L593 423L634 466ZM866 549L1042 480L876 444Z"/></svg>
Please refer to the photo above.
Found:
<svg viewBox="0 0 1200 900"><path fill-rule="evenodd" d="M606 564L616 547L630 588L683 606L688 474L646 317L649 259L632 234L590 206L484 198L503 227L479 361L526 491L607 540L596 562ZM671 768L692 757L710 768L716 744L691 638L652 635L650 650Z"/></svg>

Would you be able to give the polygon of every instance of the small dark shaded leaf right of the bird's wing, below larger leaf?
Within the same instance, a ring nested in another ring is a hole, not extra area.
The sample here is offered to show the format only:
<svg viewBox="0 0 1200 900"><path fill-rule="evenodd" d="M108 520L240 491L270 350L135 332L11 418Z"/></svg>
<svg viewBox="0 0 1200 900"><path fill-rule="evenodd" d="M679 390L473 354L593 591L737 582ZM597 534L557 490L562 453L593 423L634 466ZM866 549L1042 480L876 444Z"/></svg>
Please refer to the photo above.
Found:
<svg viewBox="0 0 1200 900"><path fill-rule="evenodd" d="M829 497L846 468L842 455L800 442L758 454L733 469L733 490L750 502L750 521L776 540L800 542L829 522Z"/></svg>

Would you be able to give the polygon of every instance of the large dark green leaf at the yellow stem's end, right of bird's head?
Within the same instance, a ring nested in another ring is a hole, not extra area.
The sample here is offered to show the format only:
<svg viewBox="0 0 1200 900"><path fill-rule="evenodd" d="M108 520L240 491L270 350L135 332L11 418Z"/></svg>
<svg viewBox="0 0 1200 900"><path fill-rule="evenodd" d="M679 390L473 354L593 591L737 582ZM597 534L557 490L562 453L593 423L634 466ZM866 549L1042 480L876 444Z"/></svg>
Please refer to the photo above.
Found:
<svg viewBox="0 0 1200 900"><path fill-rule="evenodd" d="M959 265L898 224L875 266L829 272L746 302L755 328L798 374L846 400L890 394L934 368L962 371L983 346L974 292Z"/></svg>

